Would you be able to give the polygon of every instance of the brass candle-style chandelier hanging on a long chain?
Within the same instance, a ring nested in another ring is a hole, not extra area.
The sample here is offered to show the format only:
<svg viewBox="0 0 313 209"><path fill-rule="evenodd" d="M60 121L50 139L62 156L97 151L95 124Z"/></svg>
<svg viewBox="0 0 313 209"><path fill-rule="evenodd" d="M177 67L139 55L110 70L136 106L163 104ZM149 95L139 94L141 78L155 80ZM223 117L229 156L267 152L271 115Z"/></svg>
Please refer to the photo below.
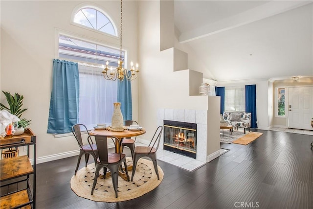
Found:
<svg viewBox="0 0 313 209"><path fill-rule="evenodd" d="M106 62L106 67L102 70L103 77L107 80L113 80L115 81L116 78L120 81L124 80L126 78L127 80L134 80L138 76L138 63L136 63L136 66L134 67L133 61L131 62L131 70L130 73L128 73L127 69L123 68L123 60L122 60L122 20L123 20L123 1L121 0L121 33L120 33L120 55L117 62L117 68L112 69L112 67L109 69L109 61ZM136 69L135 69L136 68Z"/></svg>

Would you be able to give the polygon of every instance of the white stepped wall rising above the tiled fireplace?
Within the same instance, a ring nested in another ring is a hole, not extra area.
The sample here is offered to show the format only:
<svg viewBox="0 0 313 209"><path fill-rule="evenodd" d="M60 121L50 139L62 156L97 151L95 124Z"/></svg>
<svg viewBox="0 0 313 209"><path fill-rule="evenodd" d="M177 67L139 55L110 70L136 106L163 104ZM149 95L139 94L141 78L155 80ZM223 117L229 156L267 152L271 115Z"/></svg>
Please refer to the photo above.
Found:
<svg viewBox="0 0 313 209"><path fill-rule="evenodd" d="M179 60L179 57L174 56L176 49L160 51L160 2L139 1L138 13L139 59L142 68L145 69L139 78L139 121L144 124L147 132L139 139L149 139L162 122L157 121L159 109L208 110L209 101L207 96L190 96L190 94L199 95L202 73L182 69L175 71L174 62L177 60L174 61L174 58ZM181 55L185 57L184 53ZM218 104L220 102L219 98L214 101ZM216 106L219 109L219 105ZM208 113L210 111L213 110L210 109ZM215 121L219 121L219 111L216 113ZM215 117L214 114L212 116ZM211 135L216 136L214 141L217 143L213 142L210 152L215 152L219 150L219 129L215 129Z"/></svg>

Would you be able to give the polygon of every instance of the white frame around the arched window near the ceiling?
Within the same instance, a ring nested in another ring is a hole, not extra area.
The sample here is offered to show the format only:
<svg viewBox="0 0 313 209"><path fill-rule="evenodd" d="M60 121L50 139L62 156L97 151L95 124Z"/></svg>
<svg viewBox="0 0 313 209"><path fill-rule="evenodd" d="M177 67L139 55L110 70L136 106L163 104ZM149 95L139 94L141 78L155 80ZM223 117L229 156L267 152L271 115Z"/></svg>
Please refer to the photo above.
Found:
<svg viewBox="0 0 313 209"><path fill-rule="evenodd" d="M79 23L75 23L74 22L74 19L75 19L75 15L76 13L81 10L81 9L86 9L86 8L91 8L91 9L95 9L95 10L98 10L99 12L101 12L102 14L104 14L109 20L110 22L112 23L113 25L113 29L114 29L114 32L115 32L115 35L112 35L112 34L109 34L109 33L105 33L105 32L102 32L102 31L99 31L99 30L95 30L93 28L90 28L88 26L85 26L85 25L82 25L82 24L79 24ZM112 16L109 15L107 12L105 12L103 9L99 8L97 5L95 4L92 4L92 3L82 3L82 4L79 4L78 6L76 6L73 11L72 11L72 14L71 14L71 17L70 17L70 24L72 25L75 25L75 26L78 26L78 27L81 27L81 28L84 28L84 29L87 29L87 30L90 30L92 32L96 32L96 33L99 33L99 34L102 34L102 35L107 35L107 36L110 36L110 37L113 37L113 38L117 38L119 37L119 32L117 30L117 27L116 27L116 24L117 21L114 21L112 19Z"/></svg>

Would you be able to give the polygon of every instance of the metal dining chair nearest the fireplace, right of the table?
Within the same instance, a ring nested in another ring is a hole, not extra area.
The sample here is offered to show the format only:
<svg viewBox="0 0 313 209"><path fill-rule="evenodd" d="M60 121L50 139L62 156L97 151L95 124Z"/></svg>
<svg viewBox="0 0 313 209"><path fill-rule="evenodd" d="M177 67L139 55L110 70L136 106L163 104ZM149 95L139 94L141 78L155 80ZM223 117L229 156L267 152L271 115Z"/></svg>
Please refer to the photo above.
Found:
<svg viewBox="0 0 313 209"><path fill-rule="evenodd" d="M161 135L162 135L163 126L159 126L156 129L155 134L153 135L148 146L136 146L134 150L134 158L133 158L133 172L132 172L132 180L136 171L137 162L142 157L149 157L153 165L155 167L157 180L159 180L159 175L157 171L157 163L156 163L156 151L158 149L158 145L160 143Z"/></svg>

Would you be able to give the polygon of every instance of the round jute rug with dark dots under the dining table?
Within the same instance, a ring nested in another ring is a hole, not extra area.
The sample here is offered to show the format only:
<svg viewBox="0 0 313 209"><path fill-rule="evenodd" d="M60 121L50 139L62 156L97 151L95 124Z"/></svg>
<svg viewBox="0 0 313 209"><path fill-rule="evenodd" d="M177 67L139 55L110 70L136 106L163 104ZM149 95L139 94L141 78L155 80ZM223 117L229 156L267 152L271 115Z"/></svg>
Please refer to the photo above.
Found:
<svg viewBox="0 0 313 209"><path fill-rule="evenodd" d="M132 164L132 158L126 158L127 164ZM106 179L98 178L97 184L91 195L91 187L93 184L95 165L91 163L77 171L76 176L70 180L71 189L80 197L99 202L121 202L131 200L144 195L145 193L153 190L163 180L164 173L160 166L158 167L158 174L160 180L157 180L156 172L152 161L146 159L139 159L137 162L136 172L133 182L125 181L120 176L118 177L118 197L115 198L115 192L112 184L112 178ZM128 174L130 179L132 171L129 170ZM100 170L100 176L103 175L103 169Z"/></svg>

